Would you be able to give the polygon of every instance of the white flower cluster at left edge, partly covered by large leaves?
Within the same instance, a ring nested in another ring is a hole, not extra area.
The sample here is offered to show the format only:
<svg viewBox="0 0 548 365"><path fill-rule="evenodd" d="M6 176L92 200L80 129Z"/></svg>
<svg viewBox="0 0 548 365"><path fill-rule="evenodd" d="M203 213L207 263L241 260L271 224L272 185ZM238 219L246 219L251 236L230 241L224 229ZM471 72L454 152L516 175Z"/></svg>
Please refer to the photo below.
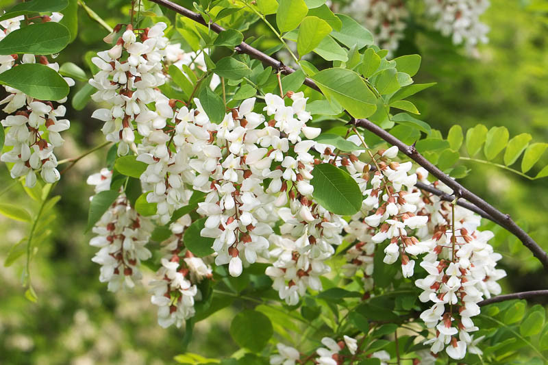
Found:
<svg viewBox="0 0 548 365"><path fill-rule="evenodd" d="M24 16L16 16L5 21L0 21L0 40L10 32L21 27ZM62 14L53 13L51 16L37 16L29 20L29 23L40 23L62 19ZM39 62L54 71L59 71L59 64L50 62L45 55L0 55L0 73L18 64L34 64ZM69 86L74 85L73 79L64 77ZM32 188L36 184L37 173L47 183L53 183L60 179L57 170L58 162L53 149L61 147L64 140L60 132L69 129L71 123L63 119L66 108L62 103L66 98L51 102L40 101L26 95L21 90L10 86L3 86L8 92L8 97L0 101L5 104L3 112L7 113L0 123L3 127L9 127L5 134L5 145L13 147L3 153L0 160L12 163L10 169L12 178L25 177L25 185Z"/></svg>

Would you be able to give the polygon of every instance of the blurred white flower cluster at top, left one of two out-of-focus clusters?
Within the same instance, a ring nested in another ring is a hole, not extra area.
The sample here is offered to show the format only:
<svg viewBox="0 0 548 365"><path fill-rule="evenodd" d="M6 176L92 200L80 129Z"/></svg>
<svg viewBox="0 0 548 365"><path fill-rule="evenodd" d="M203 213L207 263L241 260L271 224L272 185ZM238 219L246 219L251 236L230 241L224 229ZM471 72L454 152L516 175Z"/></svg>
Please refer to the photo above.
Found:
<svg viewBox="0 0 548 365"><path fill-rule="evenodd" d="M402 0L350 1L343 12L352 14L373 33L375 43L390 53L397 50L406 29L408 10Z"/></svg>

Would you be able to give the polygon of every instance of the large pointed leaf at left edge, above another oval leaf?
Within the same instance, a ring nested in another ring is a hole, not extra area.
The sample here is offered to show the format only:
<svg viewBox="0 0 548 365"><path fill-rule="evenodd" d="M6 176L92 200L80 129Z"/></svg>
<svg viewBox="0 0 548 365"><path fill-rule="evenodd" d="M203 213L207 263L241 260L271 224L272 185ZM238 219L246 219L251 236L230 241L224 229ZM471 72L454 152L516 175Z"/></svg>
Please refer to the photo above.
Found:
<svg viewBox="0 0 548 365"><path fill-rule="evenodd" d="M69 44L71 33L64 25L53 21L32 24L10 32L0 41L0 55L32 53L51 55Z"/></svg>

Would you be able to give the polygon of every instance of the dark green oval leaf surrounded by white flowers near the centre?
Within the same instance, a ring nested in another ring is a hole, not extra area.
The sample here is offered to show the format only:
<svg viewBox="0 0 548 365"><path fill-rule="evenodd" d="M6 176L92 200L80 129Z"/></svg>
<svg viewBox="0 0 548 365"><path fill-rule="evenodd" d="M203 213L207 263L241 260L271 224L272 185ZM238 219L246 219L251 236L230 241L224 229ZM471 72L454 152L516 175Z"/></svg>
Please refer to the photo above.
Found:
<svg viewBox="0 0 548 365"><path fill-rule="evenodd" d="M362 192L346 171L332 164L319 164L314 166L312 176L312 196L329 212L351 216L362 207Z"/></svg>

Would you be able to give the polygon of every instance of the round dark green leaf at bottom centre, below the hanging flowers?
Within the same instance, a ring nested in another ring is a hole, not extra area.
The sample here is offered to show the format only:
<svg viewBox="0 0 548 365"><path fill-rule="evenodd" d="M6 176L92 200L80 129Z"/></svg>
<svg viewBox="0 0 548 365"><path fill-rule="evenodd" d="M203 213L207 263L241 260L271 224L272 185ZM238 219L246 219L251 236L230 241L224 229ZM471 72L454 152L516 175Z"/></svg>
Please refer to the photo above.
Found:
<svg viewBox="0 0 548 365"><path fill-rule="evenodd" d="M260 352L273 335L269 317L255 310L242 310L230 324L230 336L240 347Z"/></svg>

